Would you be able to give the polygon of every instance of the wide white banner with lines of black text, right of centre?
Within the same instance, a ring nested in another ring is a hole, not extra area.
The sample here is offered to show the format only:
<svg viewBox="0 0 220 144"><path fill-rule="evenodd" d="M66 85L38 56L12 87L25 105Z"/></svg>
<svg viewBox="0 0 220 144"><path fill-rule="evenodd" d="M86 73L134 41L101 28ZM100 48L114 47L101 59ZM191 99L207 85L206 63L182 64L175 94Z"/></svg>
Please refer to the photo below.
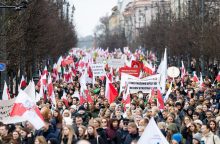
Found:
<svg viewBox="0 0 220 144"><path fill-rule="evenodd" d="M152 88L157 88L159 86L159 75L153 75L138 80L129 79L127 84L130 93L137 93L139 91L150 93Z"/></svg>

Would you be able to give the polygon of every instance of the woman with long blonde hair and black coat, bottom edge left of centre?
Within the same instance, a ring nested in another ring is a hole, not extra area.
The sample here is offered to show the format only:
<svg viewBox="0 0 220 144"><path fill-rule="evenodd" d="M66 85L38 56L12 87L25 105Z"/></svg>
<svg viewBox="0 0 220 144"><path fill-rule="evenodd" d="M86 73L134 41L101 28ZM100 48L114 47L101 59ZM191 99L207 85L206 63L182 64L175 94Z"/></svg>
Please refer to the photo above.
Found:
<svg viewBox="0 0 220 144"><path fill-rule="evenodd" d="M61 144L75 144L77 136L70 125L65 125L62 131Z"/></svg>

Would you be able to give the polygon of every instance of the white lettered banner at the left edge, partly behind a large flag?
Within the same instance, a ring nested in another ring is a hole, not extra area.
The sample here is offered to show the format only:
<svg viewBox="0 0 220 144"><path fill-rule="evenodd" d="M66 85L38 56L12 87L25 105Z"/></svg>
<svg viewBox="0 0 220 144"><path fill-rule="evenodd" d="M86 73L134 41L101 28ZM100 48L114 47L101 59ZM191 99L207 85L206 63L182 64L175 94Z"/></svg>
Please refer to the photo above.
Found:
<svg viewBox="0 0 220 144"><path fill-rule="evenodd" d="M0 121L4 124L23 122L21 117L10 117L10 112L16 98L10 100L0 100Z"/></svg>

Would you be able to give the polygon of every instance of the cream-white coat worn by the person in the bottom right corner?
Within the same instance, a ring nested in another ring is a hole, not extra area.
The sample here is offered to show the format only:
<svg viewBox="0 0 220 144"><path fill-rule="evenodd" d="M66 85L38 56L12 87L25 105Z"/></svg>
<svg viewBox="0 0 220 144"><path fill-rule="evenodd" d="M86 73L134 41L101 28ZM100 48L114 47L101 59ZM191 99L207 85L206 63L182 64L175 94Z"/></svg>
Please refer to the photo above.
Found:
<svg viewBox="0 0 220 144"><path fill-rule="evenodd" d="M202 141L204 141L205 144L220 144L219 137L217 135L214 135L212 132L209 132L205 136L203 136Z"/></svg>

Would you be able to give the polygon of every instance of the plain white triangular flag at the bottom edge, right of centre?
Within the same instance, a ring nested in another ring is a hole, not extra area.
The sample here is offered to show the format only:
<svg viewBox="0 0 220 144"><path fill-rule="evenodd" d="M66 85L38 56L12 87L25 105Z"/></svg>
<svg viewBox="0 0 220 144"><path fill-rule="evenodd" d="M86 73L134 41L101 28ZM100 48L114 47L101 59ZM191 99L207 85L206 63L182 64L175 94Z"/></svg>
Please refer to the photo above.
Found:
<svg viewBox="0 0 220 144"><path fill-rule="evenodd" d="M137 144L169 144L152 117Z"/></svg>

